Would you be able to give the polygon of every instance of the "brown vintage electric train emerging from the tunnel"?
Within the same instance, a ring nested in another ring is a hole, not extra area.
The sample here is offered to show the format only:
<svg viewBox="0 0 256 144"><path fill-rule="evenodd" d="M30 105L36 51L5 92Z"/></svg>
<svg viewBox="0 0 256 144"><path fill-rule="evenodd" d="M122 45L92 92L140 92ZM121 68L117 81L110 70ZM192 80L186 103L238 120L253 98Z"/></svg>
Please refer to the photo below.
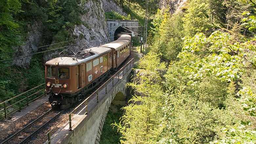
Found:
<svg viewBox="0 0 256 144"><path fill-rule="evenodd" d="M64 109L78 101L127 59L131 46L131 36L123 34L116 41L47 61L45 95L52 107Z"/></svg>

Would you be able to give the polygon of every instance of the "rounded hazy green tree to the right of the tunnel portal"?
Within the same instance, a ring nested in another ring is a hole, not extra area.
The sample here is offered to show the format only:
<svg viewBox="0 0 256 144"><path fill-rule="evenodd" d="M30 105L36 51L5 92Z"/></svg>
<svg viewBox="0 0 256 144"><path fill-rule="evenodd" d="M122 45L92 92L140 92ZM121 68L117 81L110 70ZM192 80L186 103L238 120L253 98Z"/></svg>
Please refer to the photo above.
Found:
<svg viewBox="0 0 256 144"><path fill-rule="evenodd" d="M164 61L176 60L181 51L182 37L184 37L182 17L183 14L171 16L168 10L165 10L163 16L158 15L152 22L156 34L153 38L151 51L161 53L161 59Z"/></svg>

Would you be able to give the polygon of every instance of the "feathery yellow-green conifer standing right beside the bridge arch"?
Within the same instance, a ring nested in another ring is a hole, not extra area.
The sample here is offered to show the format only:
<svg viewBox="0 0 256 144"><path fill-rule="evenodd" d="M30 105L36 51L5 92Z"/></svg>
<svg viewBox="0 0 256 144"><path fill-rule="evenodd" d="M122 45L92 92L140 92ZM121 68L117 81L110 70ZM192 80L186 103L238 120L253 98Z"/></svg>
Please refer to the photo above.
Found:
<svg viewBox="0 0 256 144"><path fill-rule="evenodd" d="M115 123L122 134L121 143L156 143L160 135L161 97L160 73L165 69L158 55L148 53L139 63L141 69L133 83L128 83L137 95L123 107L125 114ZM146 87L146 88L145 88Z"/></svg>

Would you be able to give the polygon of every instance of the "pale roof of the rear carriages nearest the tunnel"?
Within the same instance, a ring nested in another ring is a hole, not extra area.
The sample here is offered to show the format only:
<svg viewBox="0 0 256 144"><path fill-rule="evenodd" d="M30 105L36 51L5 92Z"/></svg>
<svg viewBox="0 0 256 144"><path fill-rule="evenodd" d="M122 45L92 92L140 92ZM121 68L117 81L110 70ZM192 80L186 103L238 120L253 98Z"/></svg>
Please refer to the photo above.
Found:
<svg viewBox="0 0 256 144"><path fill-rule="evenodd" d="M121 35L116 41L110 42L105 45L101 45L103 47L109 47L114 48L116 51L123 47L123 45L127 45L131 42L131 36L130 35Z"/></svg>

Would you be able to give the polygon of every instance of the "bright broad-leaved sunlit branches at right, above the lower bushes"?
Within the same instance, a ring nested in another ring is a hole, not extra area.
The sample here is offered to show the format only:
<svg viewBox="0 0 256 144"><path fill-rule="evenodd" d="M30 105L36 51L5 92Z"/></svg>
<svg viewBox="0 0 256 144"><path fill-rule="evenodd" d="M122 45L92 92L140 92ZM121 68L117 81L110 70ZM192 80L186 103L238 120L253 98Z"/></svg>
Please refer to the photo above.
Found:
<svg viewBox="0 0 256 144"><path fill-rule="evenodd" d="M189 62L187 71L192 79L214 74L223 81L231 81L240 78L244 68L256 69L254 53L251 42L232 44L229 34L215 31L208 38L203 33L186 37L178 57ZM201 59L190 61L194 55Z"/></svg>

